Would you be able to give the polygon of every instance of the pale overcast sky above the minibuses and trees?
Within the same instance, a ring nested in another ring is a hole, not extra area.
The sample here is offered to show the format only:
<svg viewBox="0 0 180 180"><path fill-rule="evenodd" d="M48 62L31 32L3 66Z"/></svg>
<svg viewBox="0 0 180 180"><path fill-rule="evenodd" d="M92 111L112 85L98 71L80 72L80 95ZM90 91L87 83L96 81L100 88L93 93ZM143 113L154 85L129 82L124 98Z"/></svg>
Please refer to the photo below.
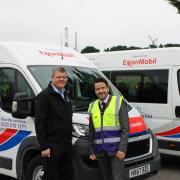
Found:
<svg viewBox="0 0 180 180"><path fill-rule="evenodd" d="M78 49L180 44L180 15L166 0L0 0L0 41L61 44L64 27Z"/></svg>

